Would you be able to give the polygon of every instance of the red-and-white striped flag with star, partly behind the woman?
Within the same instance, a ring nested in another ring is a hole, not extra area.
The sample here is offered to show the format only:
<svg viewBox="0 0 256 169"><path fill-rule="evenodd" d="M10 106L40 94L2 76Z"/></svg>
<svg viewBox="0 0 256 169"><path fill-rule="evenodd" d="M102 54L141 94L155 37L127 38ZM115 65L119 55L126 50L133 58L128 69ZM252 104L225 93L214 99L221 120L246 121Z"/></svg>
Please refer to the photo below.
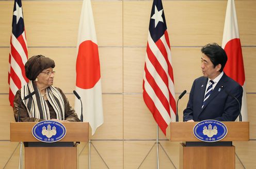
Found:
<svg viewBox="0 0 256 169"><path fill-rule="evenodd" d="M25 63L27 62L27 42L24 27L21 0L14 1L12 16L12 33L9 53L8 83L10 105L13 107L13 99L16 92L26 85L28 79L25 75Z"/></svg>

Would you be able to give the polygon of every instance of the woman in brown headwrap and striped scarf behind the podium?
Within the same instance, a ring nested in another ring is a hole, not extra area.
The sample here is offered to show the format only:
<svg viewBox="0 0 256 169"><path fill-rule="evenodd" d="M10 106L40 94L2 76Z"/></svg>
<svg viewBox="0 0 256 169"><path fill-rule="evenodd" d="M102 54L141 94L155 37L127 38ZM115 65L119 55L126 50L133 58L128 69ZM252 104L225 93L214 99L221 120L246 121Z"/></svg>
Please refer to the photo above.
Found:
<svg viewBox="0 0 256 169"><path fill-rule="evenodd" d="M65 94L59 88L52 86L54 67L54 61L42 55L28 59L25 64L25 74L29 82L18 90L14 97L13 111L16 121L19 112L21 122L40 122L50 119L79 122ZM34 91L33 96L20 104L25 96Z"/></svg>

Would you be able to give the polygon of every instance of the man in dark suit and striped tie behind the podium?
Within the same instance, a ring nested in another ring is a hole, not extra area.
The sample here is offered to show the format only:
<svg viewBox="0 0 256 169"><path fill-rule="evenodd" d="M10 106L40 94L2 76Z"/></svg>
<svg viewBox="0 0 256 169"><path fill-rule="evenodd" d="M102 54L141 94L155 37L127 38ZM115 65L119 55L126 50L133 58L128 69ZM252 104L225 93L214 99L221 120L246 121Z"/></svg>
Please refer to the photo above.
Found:
<svg viewBox="0 0 256 169"><path fill-rule="evenodd" d="M233 97L242 106L243 88L223 72L227 54L216 43L203 46L201 52L203 76L193 83L183 121L235 121L239 105Z"/></svg>

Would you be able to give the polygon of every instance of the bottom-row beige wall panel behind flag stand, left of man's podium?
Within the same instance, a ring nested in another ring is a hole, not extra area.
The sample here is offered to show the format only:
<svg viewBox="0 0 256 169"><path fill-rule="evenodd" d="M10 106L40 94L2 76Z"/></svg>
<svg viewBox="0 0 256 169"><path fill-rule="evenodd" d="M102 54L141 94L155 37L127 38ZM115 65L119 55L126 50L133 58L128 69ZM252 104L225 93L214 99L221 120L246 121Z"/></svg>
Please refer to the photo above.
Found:
<svg viewBox="0 0 256 169"><path fill-rule="evenodd" d="M154 141L124 141L123 168L156 168L156 145L154 143ZM164 147L164 150L167 152L175 167L164 153L162 147L159 146L159 168L179 168L179 143L161 141L161 145ZM150 151L151 148L152 150ZM143 161L146 156L147 158Z"/></svg>

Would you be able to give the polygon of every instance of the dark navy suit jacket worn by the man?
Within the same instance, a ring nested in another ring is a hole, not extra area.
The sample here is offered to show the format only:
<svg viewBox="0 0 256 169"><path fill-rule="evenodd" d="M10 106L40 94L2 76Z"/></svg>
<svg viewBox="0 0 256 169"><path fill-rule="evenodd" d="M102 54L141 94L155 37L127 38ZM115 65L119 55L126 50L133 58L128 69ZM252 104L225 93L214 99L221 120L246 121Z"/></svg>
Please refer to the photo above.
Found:
<svg viewBox="0 0 256 169"><path fill-rule="evenodd" d="M242 106L243 88L224 73L202 108L207 81L207 77L199 77L194 81L187 108L183 111L183 121L235 121L239 115L239 105L225 90L235 96Z"/></svg>

